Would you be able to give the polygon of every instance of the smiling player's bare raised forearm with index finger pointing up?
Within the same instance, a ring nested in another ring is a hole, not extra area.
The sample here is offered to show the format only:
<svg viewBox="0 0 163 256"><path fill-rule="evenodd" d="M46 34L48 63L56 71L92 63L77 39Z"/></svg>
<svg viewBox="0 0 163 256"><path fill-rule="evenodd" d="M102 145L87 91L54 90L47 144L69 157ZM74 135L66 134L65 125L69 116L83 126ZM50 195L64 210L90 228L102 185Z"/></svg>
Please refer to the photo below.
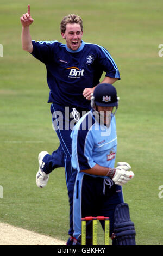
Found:
<svg viewBox="0 0 163 256"><path fill-rule="evenodd" d="M31 53L33 52L33 45L29 26L33 23L34 20L30 16L30 5L28 5L28 13L23 14L20 19L22 24L22 49Z"/></svg>

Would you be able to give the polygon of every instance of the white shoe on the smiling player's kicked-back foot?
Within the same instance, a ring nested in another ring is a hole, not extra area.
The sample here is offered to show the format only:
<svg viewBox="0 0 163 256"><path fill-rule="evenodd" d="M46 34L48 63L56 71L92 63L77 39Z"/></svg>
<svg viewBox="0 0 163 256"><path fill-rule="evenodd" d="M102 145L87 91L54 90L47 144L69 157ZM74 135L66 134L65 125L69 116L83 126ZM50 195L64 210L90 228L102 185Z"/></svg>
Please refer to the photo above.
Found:
<svg viewBox="0 0 163 256"><path fill-rule="evenodd" d="M38 157L38 159L39 159L39 170L36 174L36 185L37 185L37 187L40 187L40 188L45 187L48 180L49 180L49 174L46 174L42 170L42 168L45 164L42 160L43 160L43 157L47 154L49 154L47 151L41 151L40 154L39 154L39 157Z"/></svg>

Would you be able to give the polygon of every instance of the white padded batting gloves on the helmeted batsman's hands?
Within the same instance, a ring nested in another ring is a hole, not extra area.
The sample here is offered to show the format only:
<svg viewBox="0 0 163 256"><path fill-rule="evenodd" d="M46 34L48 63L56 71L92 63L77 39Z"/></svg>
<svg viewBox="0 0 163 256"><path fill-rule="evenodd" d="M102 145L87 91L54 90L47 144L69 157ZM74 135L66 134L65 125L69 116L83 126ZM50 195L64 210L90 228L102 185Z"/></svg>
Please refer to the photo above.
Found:
<svg viewBox="0 0 163 256"><path fill-rule="evenodd" d="M130 170L130 165L126 162L118 162L117 167L115 168L115 174L112 178L115 184L117 185L124 185L126 184L129 180L134 178L134 173Z"/></svg>

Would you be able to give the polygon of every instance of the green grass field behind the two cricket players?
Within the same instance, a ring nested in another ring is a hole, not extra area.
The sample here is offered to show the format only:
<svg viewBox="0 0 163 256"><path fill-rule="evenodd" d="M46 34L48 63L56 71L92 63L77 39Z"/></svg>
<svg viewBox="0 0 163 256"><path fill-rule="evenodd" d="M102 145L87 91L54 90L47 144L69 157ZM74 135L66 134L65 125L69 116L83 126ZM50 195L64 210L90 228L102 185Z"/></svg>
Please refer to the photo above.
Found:
<svg viewBox="0 0 163 256"><path fill-rule="evenodd" d="M37 155L52 153L52 130L45 66L21 49L20 17L31 6L32 39L58 40L62 17L83 17L83 40L104 46L120 69L116 82L118 153L135 178L123 187L135 223L137 245L163 245L162 38L161 0L1 0L0 44L0 222L67 240L68 196L64 169L35 184ZM3 198L2 198L3 197Z"/></svg>

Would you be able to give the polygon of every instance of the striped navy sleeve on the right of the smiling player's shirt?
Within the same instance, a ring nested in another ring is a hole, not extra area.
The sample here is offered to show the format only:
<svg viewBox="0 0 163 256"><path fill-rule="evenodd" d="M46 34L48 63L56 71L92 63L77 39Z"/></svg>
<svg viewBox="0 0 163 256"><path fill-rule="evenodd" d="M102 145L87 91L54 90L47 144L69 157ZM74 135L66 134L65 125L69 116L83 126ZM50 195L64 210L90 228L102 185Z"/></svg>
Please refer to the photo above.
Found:
<svg viewBox="0 0 163 256"><path fill-rule="evenodd" d="M111 57L108 50L106 50L104 47L98 45L98 61L99 64L102 66L104 72L106 72L105 76L109 76L111 78L117 78L120 80L120 72L118 70L118 67L114 61L114 59Z"/></svg>

